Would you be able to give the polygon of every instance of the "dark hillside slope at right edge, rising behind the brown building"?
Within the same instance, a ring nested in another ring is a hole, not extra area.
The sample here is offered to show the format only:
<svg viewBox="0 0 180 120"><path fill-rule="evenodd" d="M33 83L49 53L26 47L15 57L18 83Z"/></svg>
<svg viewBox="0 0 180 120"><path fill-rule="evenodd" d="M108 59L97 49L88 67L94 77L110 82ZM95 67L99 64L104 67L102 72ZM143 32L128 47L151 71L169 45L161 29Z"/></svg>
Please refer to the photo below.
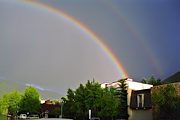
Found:
<svg viewBox="0 0 180 120"><path fill-rule="evenodd" d="M166 78L164 80L165 83L174 83L174 82L180 82L180 71L171 75L170 77Z"/></svg>

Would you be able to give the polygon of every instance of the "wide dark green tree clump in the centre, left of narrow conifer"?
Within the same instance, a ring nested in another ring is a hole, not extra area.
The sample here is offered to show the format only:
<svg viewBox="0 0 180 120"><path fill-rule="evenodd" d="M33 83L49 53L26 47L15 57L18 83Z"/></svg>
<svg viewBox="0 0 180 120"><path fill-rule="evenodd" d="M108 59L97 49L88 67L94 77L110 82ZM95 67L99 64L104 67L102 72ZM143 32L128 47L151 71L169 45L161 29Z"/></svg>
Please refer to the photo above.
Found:
<svg viewBox="0 0 180 120"><path fill-rule="evenodd" d="M63 115L76 120L87 120L88 111L92 111L92 117L110 119L118 114L119 100L116 90L102 89L101 85L94 80L87 81L84 85L72 91L68 89L67 98L64 101ZM71 111L71 112L67 112Z"/></svg>

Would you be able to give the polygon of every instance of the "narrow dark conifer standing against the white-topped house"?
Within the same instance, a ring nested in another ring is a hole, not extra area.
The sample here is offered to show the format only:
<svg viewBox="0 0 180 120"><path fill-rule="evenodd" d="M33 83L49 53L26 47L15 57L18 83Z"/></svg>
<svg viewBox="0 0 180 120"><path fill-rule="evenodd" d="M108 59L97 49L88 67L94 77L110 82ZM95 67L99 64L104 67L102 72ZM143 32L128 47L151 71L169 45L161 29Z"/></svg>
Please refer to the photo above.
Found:
<svg viewBox="0 0 180 120"><path fill-rule="evenodd" d="M119 117L128 119L128 103L127 103L127 84L126 79L119 80L119 87L117 87L117 96L119 98Z"/></svg>

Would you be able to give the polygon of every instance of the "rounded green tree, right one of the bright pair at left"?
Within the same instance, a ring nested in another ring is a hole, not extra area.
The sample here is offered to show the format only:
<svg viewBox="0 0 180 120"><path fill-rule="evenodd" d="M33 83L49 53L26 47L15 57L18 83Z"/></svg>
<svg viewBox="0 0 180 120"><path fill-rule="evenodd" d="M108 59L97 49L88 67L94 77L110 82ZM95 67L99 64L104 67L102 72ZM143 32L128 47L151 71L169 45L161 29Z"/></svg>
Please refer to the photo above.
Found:
<svg viewBox="0 0 180 120"><path fill-rule="evenodd" d="M38 114L40 111L40 96L38 91L29 86L25 89L20 102L20 113Z"/></svg>

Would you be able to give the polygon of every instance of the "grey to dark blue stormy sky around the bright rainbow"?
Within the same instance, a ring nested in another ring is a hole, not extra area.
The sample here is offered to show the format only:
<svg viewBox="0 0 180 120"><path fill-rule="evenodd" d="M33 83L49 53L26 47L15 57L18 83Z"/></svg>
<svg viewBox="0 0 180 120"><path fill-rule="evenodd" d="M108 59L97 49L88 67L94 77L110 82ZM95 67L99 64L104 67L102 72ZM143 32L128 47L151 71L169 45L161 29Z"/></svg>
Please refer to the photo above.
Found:
<svg viewBox="0 0 180 120"><path fill-rule="evenodd" d="M166 78L180 68L177 0L41 0L88 26L121 60L130 78ZM0 1L0 78L65 94L93 78L121 74L78 26L46 9Z"/></svg>

